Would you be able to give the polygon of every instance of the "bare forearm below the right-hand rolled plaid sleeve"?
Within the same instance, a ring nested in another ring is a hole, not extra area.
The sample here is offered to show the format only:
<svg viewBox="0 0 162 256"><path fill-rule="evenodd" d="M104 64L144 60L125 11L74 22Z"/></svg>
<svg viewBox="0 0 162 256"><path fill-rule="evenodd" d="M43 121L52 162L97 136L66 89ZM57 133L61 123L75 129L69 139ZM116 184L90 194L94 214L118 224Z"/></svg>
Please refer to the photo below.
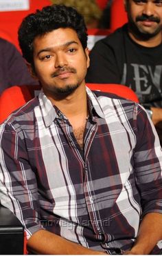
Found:
<svg viewBox="0 0 162 256"><path fill-rule="evenodd" d="M143 217L135 246L126 252L130 255L148 255L162 239L162 214L148 213Z"/></svg>

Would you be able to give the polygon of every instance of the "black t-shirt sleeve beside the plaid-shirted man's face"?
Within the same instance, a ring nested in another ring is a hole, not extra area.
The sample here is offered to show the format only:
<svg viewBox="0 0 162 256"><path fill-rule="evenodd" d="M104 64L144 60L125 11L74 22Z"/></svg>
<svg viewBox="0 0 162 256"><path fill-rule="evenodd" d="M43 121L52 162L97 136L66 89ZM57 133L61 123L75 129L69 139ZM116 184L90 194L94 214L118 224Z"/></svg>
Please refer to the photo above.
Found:
<svg viewBox="0 0 162 256"><path fill-rule="evenodd" d="M90 66L86 75L86 83L120 83L121 75L115 52L103 40L95 43L90 52Z"/></svg>

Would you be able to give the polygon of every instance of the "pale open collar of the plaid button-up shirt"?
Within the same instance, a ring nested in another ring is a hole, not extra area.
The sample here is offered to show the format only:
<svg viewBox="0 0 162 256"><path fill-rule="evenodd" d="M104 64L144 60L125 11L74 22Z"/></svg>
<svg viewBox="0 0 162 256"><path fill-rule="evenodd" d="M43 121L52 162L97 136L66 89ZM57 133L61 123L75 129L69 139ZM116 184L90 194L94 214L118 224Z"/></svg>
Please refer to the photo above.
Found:
<svg viewBox="0 0 162 256"><path fill-rule="evenodd" d="M86 87L86 93L89 97L89 104L90 104L91 110L94 108L97 115L99 117L104 118L104 113L102 111L102 108L95 94L87 87ZM51 104L51 101L46 97L43 91L39 93L38 99L40 102L40 108L42 110L42 116L45 122L45 126L47 127L51 126L52 122L57 117L56 109Z"/></svg>

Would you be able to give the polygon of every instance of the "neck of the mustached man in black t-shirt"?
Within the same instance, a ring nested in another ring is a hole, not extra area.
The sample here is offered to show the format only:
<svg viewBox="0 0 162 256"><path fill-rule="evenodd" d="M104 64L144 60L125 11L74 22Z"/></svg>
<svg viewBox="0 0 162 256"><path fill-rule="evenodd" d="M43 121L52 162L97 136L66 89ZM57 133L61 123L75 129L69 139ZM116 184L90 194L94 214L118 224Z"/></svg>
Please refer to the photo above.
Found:
<svg viewBox="0 0 162 256"><path fill-rule="evenodd" d="M159 46L162 42L162 33L159 33L159 34L155 35L154 37L152 37L148 40L144 40L142 38L139 38L130 31L128 31L128 35L130 36L130 38L133 41L135 41L135 43L138 43L139 45L145 46L145 47L148 47L148 48Z"/></svg>

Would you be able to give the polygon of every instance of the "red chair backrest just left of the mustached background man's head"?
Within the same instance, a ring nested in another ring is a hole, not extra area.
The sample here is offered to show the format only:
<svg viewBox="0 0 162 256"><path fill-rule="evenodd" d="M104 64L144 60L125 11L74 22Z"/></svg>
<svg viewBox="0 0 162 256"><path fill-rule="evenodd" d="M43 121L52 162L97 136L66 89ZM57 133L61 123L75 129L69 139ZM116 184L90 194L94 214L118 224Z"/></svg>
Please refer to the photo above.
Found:
<svg viewBox="0 0 162 256"><path fill-rule="evenodd" d="M111 4L111 31L122 27L128 21L124 0L113 0Z"/></svg>

